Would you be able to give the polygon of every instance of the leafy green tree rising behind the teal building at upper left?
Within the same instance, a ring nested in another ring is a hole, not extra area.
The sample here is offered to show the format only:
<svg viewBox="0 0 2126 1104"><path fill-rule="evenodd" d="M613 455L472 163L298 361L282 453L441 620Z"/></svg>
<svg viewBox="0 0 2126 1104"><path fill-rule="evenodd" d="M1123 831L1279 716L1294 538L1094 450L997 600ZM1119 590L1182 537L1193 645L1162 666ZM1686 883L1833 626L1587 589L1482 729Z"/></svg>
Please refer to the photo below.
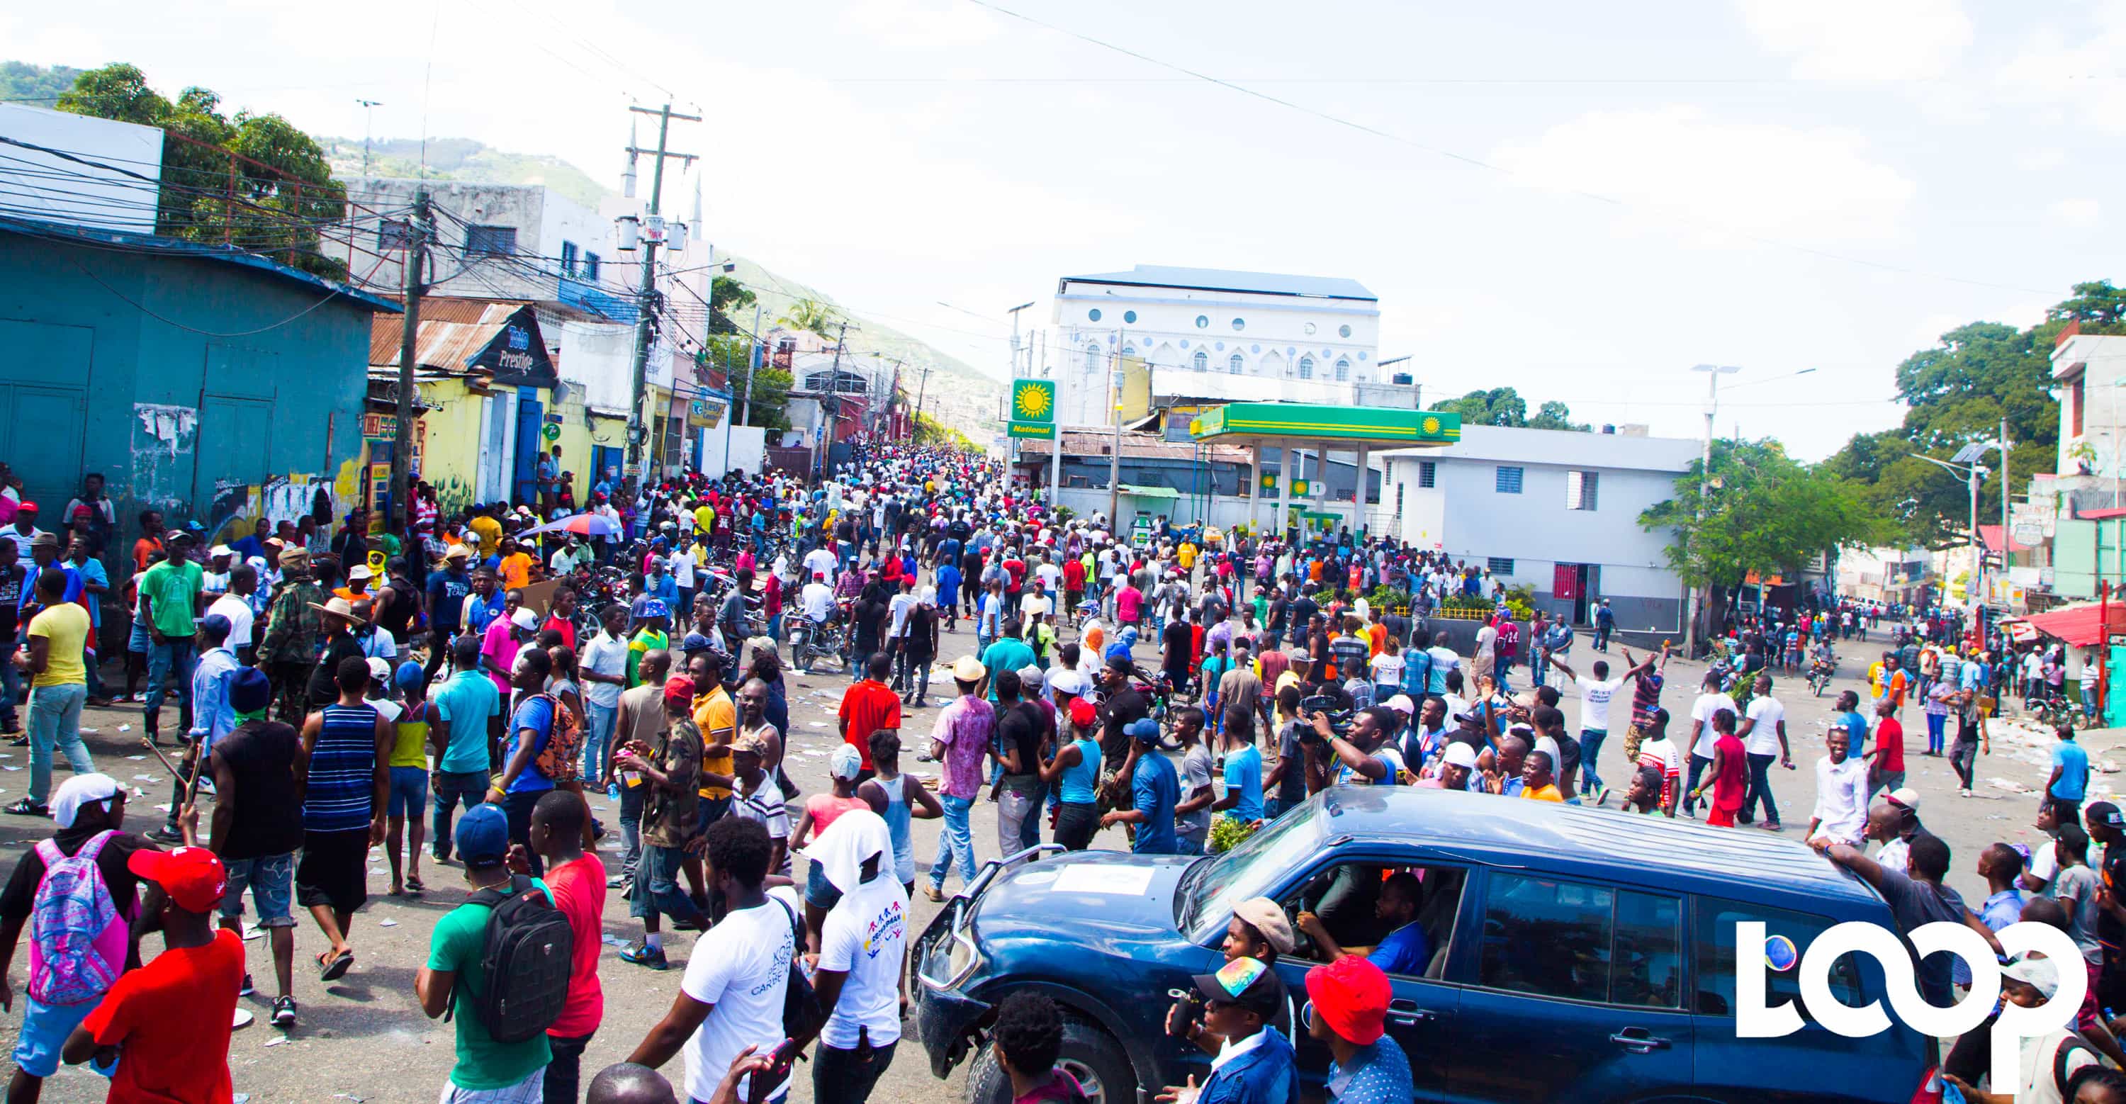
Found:
<svg viewBox="0 0 2126 1104"><path fill-rule="evenodd" d="M325 151L279 115L221 115L221 98L187 87L172 102L136 66L81 72L60 111L162 128L162 191L155 232L266 253L306 272L347 279L319 251L317 225L347 217L347 189Z"/></svg>

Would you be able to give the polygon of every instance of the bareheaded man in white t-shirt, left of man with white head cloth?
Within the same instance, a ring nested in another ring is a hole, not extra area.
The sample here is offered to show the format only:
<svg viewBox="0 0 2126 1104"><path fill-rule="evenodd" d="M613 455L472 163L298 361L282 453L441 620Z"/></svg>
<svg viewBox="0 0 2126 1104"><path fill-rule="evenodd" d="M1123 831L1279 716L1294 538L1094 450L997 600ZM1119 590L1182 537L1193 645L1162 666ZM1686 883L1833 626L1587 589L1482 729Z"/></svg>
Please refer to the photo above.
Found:
<svg viewBox="0 0 2126 1104"><path fill-rule="evenodd" d="M708 825L702 857L708 883L729 910L695 940L672 1008L627 1057L659 1068L687 1051L687 1095L712 1100L731 1059L746 1047L770 1053L782 1042L782 989L797 953L795 910L761 889L772 847L767 830L748 817ZM767 1100L789 1095L789 1072ZM738 1087L750 1100L750 1078Z"/></svg>

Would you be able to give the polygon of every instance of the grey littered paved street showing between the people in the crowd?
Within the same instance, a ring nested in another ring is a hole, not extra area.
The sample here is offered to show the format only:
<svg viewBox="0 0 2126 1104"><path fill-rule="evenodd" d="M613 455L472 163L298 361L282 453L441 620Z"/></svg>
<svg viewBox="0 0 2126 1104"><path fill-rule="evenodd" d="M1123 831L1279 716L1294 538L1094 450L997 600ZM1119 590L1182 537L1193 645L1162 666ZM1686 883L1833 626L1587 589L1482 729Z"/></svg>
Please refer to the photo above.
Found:
<svg viewBox="0 0 2126 1104"><path fill-rule="evenodd" d="M942 655L944 659L952 659L972 651L972 632L967 632L963 623L959 634L948 634ZM1813 800L1813 774L1809 768L1816 757L1822 755L1822 721L1830 715L1830 702L1835 700L1837 689L1858 687L1862 655L1867 655L1862 645L1845 645L1841 657L1841 679L1833 685L1833 691L1820 700L1809 698L1807 685L1801 681L1792 681L1790 685L1775 689L1788 706L1788 734L1794 742L1796 770L1775 770L1773 789L1788 825L1786 834L1794 840L1801 838L1801 830L1807 825L1807 810ZM1575 645L1571 659L1575 662L1575 668L1584 670L1586 666L1592 666L1594 657L1597 655L1590 653L1586 638L1582 638ZM1142 649L1140 659L1152 659L1150 649ZM1612 664L1620 662L1622 655L1612 655ZM1663 704L1667 704L1671 713L1686 713L1697 693L1694 687L1701 674L1703 666L1699 664L1682 659L1671 662L1669 689ZM944 676L940 674L940 679ZM833 710L846 683L846 679L829 674L791 679L793 732L789 766L791 776L808 793L827 785L827 751L836 742ZM946 685L950 685L948 679ZM1524 668L1516 670L1516 685L1526 685ZM935 708L912 713L912 719L904 730L910 736L906 740L910 753L904 757L904 768L914 772L935 770L931 764L912 762L912 753L925 747L929 721L935 713ZM1565 713L1577 730L1575 693L1565 696ZM155 821L151 817L159 817L153 806L166 800L168 791L159 764L155 764L155 759L138 742L138 713L121 713L115 708L89 710L83 723L98 730L87 736L87 742L96 753L98 768L147 791L145 798L134 798L130 827L136 832L153 827ZM130 725L130 732L121 732L125 725ZM1926 736L1924 719L1916 706L1907 708L1907 725L1909 785L1924 798L1922 815L1926 825L1945 838L1954 849L1956 859L1950 883L1973 900L1984 898L1984 885L1971 872L1977 849L1994 840L2032 842L2037 836L2030 827L2030 819L2037 806L2035 791L2045 779L2045 747L2030 740L2028 734L2032 730L2018 723L2005 723L1994 736L1992 755L1979 759L1977 798L1958 800L1954 774L1947 768L1947 762L1918 755L1918 749L1926 747ZM1688 721L1673 725L1673 734L1682 740L1688 734ZM2111 766L2111 762L2126 762L2126 753L2120 751L2122 742L2126 742L2126 732L2092 732L2081 738L2090 747L2092 762L2103 766ZM2049 742L2049 736L2045 736L2045 742ZM13 800L21 793L21 789L26 789L28 755L26 749L9 749L6 755L6 759L0 759L0 764L4 764L4 772L0 772L0 791L6 791L6 798ZM1612 738L1603 747L1599 768L1609 781L1624 779L1622 740ZM2098 774L2090 789L2092 800L2109 796L2113 785L2115 776ZM617 810L610 808L604 798L595 800L593 806L597 806L600 817L608 825L617 825ZM21 853L21 844L34 840L49 825L38 825L36 821L19 817L0 819L0 842L4 842L9 868L13 868L15 857ZM1739 832L1754 830L1739 827ZM916 821L914 840L918 866L927 864L935 853L935 821ZM1123 844L1118 832L1108 832L1097 842L1108 847ZM617 847L619 844L608 838L602 849L602 857L606 857L608 864L617 862ZM976 808L976 847L984 859L995 855L995 819L989 808ZM370 891L378 896L370 898L368 908L355 925L353 944L357 949L357 966L351 974L347 974L347 978L332 987L319 987L315 970L304 970L304 961L306 955L319 949L321 938L315 927L310 927L308 919L304 919L298 927L296 998L302 1004L302 1023L287 1036L264 1025L270 1000L270 983L266 981L270 976L270 964L261 957L261 940L247 942L247 949L253 955L249 966L261 981L264 996L249 998L244 1006L251 1008L261 1023L236 1034L230 1051L230 1068L234 1072L238 1093L249 1093L253 1102L425 1102L434 1100L440 1091L453 1059L451 1027L440 1021L429 1021L419 1013L412 998L412 978L425 957L427 934L434 917L463 900L463 889L457 881L457 870L444 868L427 874L429 891L425 898L385 898L381 893L387 885L387 868L381 853L372 855L370 870ZM910 932L921 932L923 923L935 915L935 908L938 906L923 900L918 891L914 900L916 923ZM638 938L638 925L627 919L625 902L619 896L608 898L606 934L612 940L631 940ZM28 951L21 951L17 957L26 953ZM672 957L672 970L659 974L623 964L617 957L617 947L608 947L600 970L606 985L606 1019L585 1055L587 1076L589 1072L625 1057L642 1038L644 1030L670 1004L678 989L680 970L687 957L687 942L668 942L668 953ZM13 974L17 978L17 987L23 978L23 970L26 966L17 961ZM13 1030L17 1025L19 1004L17 1013L6 1017L9 1038L13 1038ZM674 1059L665 1072L676 1081L680 1074L680 1059ZM963 1078L955 1076L944 1091L957 1100L961 1087ZM938 1102L942 1100L938 1093L940 1085L929 1074L929 1064L921 1047L916 1047L914 1040L906 1040L874 1100ZM799 1078L791 1100L808 1102L810 1098L810 1068L799 1066ZM91 1074L66 1070L47 1085L45 1100L102 1100L102 1083Z"/></svg>

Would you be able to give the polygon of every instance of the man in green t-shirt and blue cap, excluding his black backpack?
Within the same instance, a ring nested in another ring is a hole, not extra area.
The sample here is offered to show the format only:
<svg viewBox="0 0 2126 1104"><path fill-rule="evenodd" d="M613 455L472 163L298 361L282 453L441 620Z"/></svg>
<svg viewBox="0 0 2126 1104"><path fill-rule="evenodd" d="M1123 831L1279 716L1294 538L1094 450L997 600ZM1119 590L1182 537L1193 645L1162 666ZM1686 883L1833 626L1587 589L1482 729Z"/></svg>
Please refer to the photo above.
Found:
<svg viewBox="0 0 2126 1104"><path fill-rule="evenodd" d="M510 823L502 806L480 804L457 819L457 859L466 864L466 885L480 889L502 889L510 885L506 864L510 851ZM532 879L546 891L546 883ZM553 891L546 891L553 898ZM412 991L421 998L427 1019L451 1010L457 1027L457 1064L451 1066L451 1093L444 1100L476 1100L480 1093L495 1093L493 1100L538 1100L540 1081L553 1051L546 1034L540 1032L523 1042L495 1042L480 1021L480 993L487 991L487 917L493 908L476 902L459 904L436 921L436 932L427 940L427 966L412 978Z"/></svg>

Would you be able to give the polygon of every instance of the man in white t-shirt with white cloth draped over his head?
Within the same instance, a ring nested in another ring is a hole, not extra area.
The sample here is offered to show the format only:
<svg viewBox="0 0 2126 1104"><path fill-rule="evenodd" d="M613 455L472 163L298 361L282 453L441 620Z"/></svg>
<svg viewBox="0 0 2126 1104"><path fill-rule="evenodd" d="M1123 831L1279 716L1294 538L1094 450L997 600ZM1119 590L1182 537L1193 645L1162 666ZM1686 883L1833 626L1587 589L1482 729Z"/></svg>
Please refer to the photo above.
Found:
<svg viewBox="0 0 2126 1104"><path fill-rule="evenodd" d="M812 974L827 1013L812 1051L812 1100L867 1100L901 1038L908 891L893 876L893 838L876 813L842 813L806 855L842 891L821 923Z"/></svg>

